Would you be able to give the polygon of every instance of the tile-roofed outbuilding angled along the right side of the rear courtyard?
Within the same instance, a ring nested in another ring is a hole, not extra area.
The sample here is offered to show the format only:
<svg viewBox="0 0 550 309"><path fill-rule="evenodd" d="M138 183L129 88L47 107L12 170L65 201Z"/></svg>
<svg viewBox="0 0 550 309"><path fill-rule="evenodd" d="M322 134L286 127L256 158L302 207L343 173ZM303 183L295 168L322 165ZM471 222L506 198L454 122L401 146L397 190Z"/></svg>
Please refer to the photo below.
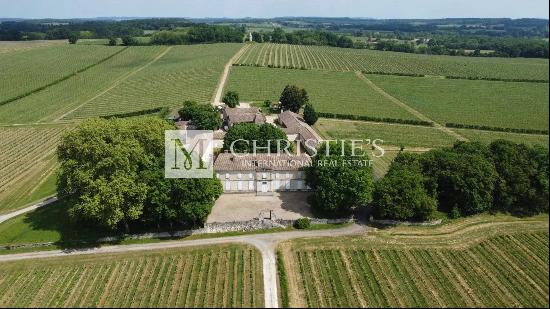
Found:
<svg viewBox="0 0 550 309"><path fill-rule="evenodd" d="M284 111L279 114L279 125L282 130L288 135L291 141L297 141L302 144L303 148L311 154L311 148L319 147L323 140L311 126L309 126L302 116L291 112Z"/></svg>

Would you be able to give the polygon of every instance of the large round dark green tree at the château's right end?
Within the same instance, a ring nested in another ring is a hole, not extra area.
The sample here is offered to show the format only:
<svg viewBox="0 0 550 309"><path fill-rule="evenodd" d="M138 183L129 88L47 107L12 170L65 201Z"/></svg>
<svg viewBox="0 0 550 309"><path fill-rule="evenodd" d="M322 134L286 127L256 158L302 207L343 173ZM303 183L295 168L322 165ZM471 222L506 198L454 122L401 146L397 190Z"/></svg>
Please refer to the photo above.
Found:
<svg viewBox="0 0 550 309"><path fill-rule="evenodd" d="M374 189L372 168L365 164L366 154L351 155L349 144L331 143L328 148L327 154L327 144L323 144L306 168L306 181L314 191L312 207L322 215L346 216L370 203Z"/></svg>

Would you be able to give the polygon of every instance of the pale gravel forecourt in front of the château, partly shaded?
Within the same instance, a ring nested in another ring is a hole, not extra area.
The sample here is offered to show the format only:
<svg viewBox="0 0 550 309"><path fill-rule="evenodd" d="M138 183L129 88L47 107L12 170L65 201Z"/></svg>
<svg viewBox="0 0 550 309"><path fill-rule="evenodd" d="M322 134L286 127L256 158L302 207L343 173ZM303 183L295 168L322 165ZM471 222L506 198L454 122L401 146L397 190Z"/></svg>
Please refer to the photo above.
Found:
<svg viewBox="0 0 550 309"><path fill-rule="evenodd" d="M309 193L305 192L280 192L273 196L257 196L256 193L222 194L208 216L207 223L249 221L270 210L277 219L311 217L308 196Z"/></svg>

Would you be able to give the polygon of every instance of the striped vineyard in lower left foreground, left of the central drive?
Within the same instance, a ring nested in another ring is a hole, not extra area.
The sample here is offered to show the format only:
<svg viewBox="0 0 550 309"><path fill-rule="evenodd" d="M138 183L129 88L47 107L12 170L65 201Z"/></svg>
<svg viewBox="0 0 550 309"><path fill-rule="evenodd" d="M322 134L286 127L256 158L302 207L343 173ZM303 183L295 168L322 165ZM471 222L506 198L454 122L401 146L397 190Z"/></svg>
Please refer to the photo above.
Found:
<svg viewBox="0 0 550 309"><path fill-rule="evenodd" d="M240 245L0 263L0 307L261 307L261 267Z"/></svg>

